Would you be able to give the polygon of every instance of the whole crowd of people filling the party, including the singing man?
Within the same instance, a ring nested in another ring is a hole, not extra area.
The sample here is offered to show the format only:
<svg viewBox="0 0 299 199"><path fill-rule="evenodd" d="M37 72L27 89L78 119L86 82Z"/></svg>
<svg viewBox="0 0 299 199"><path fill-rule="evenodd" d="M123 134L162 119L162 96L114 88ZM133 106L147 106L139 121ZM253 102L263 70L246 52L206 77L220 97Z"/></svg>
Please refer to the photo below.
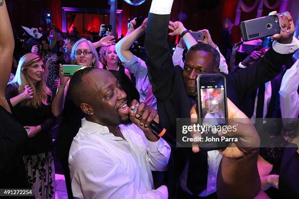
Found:
<svg viewBox="0 0 299 199"><path fill-rule="evenodd" d="M281 31L271 46L237 60L239 42L226 60L209 30L195 40L182 22L170 21L172 3L153 0L148 18L139 27L131 20L120 40L103 34L104 25L94 41L52 24L19 44L2 0L0 188L55 198L51 151L58 129L69 199L299 197L299 62L293 56L299 40L292 16L278 16ZM131 49L144 34L146 58ZM174 52L168 35L181 36ZM70 77L64 64L83 67ZM229 124L238 128L222 136L239 141L211 151L195 142L192 149L172 147L149 126L159 123L176 137L178 118L198 118L195 80L205 73L225 76ZM269 134L255 127L261 120ZM279 147L259 147L281 138Z"/></svg>

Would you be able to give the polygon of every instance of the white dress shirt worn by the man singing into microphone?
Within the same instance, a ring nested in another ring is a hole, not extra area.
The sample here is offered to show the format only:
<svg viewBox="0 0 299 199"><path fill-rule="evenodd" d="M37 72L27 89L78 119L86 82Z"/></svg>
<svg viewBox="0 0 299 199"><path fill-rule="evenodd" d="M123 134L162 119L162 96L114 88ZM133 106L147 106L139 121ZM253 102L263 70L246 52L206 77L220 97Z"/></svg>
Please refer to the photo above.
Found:
<svg viewBox="0 0 299 199"><path fill-rule="evenodd" d="M73 196L81 199L167 199L153 189L151 170L167 169L171 153L163 139L151 142L134 124L119 125L124 139L106 126L82 119L68 163Z"/></svg>

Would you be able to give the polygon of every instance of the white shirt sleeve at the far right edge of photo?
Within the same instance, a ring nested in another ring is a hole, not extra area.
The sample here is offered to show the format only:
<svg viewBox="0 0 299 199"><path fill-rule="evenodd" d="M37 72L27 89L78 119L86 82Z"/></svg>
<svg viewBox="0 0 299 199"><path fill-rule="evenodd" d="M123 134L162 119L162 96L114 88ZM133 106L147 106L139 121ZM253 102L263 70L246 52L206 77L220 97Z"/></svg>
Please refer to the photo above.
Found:
<svg viewBox="0 0 299 199"><path fill-rule="evenodd" d="M299 60L288 69L282 80L279 90L280 109L282 118L297 118L299 113Z"/></svg>

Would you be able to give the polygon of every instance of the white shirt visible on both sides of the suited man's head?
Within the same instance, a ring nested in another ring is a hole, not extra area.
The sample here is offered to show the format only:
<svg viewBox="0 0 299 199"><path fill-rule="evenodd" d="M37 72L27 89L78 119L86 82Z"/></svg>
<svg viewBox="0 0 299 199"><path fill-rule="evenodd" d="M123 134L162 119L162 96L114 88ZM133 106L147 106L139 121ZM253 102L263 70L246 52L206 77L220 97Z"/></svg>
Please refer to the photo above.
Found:
<svg viewBox="0 0 299 199"><path fill-rule="evenodd" d="M228 66L227 66L227 63L225 61L225 58L220 53L220 50L219 50L218 46L215 46L215 49L218 51L218 53L220 55L220 62L219 62L220 72L223 72L227 75L228 74ZM183 53L184 53L184 48L178 47L178 44L177 44L176 48L173 52L173 55L172 55L172 62L173 62L174 66L179 65L184 70Z"/></svg>

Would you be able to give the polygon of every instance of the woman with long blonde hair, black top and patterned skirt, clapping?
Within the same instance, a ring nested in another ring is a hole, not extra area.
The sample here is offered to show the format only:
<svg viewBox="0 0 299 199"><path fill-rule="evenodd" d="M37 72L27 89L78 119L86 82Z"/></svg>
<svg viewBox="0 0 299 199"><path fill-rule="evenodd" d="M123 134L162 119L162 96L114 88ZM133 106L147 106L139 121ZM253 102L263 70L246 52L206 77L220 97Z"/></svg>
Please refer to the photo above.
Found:
<svg viewBox="0 0 299 199"><path fill-rule="evenodd" d="M21 57L16 76L6 87L5 97L12 115L24 126L29 137L23 161L34 195L51 199L55 197L55 171L50 130L55 117L51 113L52 93L45 84L46 77L43 58L27 53Z"/></svg>

